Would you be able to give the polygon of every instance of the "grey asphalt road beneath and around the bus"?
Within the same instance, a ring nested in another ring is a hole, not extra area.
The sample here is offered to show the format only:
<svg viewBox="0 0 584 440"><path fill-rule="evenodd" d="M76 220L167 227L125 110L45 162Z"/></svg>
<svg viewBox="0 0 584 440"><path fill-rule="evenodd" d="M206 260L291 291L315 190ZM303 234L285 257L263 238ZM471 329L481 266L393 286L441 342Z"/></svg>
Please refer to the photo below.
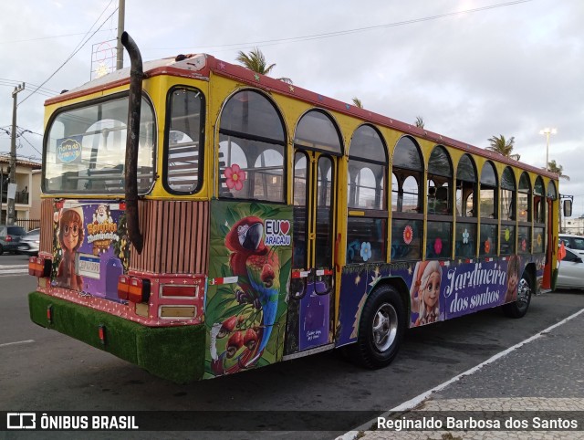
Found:
<svg viewBox="0 0 584 440"><path fill-rule="evenodd" d="M28 276L0 277L0 411L246 411L255 414L258 425L269 417L262 411L275 409L381 413L584 308L584 293L564 291L532 299L522 320L508 319L492 309L410 330L396 361L378 371L362 370L335 353L321 353L231 377L177 385L37 327L28 318L26 302L35 284L35 278ZM553 363L545 368L553 368ZM363 417L356 422L370 419ZM144 434L137 438L149 438ZM333 433L307 434L302 436L334 437ZM298 433L237 435L259 436L297 438ZM151 438L160 437L158 433ZM201 433L197 437L202 438Z"/></svg>

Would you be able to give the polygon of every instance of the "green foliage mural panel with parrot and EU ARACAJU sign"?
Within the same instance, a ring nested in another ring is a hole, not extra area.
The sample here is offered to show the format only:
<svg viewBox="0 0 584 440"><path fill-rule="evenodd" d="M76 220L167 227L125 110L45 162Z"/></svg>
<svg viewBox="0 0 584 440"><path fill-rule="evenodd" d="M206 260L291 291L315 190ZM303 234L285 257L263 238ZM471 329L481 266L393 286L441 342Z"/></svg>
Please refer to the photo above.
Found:
<svg viewBox="0 0 584 440"><path fill-rule="evenodd" d="M292 209L211 204L205 376L282 357L292 257Z"/></svg>

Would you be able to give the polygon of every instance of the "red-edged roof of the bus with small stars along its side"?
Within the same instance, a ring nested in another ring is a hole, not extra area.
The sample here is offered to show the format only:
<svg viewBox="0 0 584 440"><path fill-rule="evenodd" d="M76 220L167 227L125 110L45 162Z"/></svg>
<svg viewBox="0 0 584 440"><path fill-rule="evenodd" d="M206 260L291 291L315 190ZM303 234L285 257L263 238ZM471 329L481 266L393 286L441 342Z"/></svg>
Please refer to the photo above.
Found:
<svg viewBox="0 0 584 440"><path fill-rule="evenodd" d="M517 166L533 173L545 175L553 180L558 180L558 174L556 173L547 172L542 168L528 165L525 162L518 162L496 152L490 152L484 148L475 147L474 145L462 141L456 141L452 138L443 136L442 134L418 128L413 124L394 120L370 110L360 109L352 104L328 98L308 89L297 87L296 85L287 84L279 79L266 77L265 75L258 74L248 68L214 58L211 55L178 55L175 58L161 58L146 61L143 63L142 69L147 78L157 75L171 75L190 79L209 79L213 72L215 75L237 79L238 81L245 82L246 84L259 89L273 90L294 97L297 100L304 100L322 109L334 110L348 114L361 120L370 121L371 123L402 131L406 134L412 134L413 136L417 136L427 141L449 145L464 152L477 154L496 162ZM70 100L89 93L111 89L112 87L121 86L129 82L130 67L122 68L99 79L89 81L76 89L64 91L61 95L45 101L45 105Z"/></svg>

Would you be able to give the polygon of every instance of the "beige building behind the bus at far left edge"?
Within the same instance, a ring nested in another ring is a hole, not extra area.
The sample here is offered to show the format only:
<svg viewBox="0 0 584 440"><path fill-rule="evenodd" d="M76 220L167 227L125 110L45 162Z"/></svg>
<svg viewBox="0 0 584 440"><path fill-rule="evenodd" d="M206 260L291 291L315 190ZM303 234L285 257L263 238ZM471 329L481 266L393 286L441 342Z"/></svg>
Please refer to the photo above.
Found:
<svg viewBox="0 0 584 440"><path fill-rule="evenodd" d="M2 194L2 210L0 224L6 223L8 213L8 183L10 183L10 157L0 156L0 194ZM25 160L16 160L16 222L26 229L36 227L29 220L40 219L40 173L41 164Z"/></svg>

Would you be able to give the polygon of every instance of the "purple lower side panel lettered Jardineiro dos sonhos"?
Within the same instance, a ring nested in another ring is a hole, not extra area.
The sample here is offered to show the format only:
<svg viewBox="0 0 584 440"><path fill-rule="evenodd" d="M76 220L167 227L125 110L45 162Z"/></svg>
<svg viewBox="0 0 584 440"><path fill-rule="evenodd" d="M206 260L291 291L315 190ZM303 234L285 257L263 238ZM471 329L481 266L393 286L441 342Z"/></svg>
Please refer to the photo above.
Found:
<svg viewBox="0 0 584 440"><path fill-rule="evenodd" d="M450 320L516 300L517 284L534 263L541 279L544 256L526 255L481 260L426 260L410 263L353 265L343 268L337 346L357 340L360 310L375 286L402 278L409 288L410 327Z"/></svg>

